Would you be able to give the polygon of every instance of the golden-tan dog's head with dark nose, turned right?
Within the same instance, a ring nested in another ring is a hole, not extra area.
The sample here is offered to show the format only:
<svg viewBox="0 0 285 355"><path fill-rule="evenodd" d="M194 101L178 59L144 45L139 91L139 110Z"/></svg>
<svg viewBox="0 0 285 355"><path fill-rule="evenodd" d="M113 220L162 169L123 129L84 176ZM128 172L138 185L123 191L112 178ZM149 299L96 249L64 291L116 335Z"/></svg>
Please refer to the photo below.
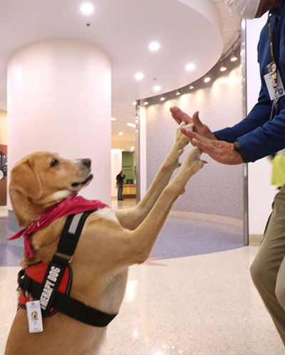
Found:
<svg viewBox="0 0 285 355"><path fill-rule="evenodd" d="M9 194L20 226L26 227L46 208L88 185L90 159L67 160L57 153L36 152L11 170Z"/></svg>

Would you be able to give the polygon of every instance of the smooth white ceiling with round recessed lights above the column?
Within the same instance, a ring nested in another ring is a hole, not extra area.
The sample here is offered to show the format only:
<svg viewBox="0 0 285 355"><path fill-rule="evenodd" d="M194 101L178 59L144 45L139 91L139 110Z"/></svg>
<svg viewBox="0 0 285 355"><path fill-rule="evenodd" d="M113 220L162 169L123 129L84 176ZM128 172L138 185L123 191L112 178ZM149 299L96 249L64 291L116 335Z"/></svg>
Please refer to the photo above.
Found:
<svg viewBox="0 0 285 355"><path fill-rule="evenodd" d="M94 11L83 15L87 2ZM224 0L0 0L0 108L6 109L6 66L15 51L45 39L88 41L112 62L112 148L130 150L135 128L126 123L135 123L133 101L203 76L231 49L239 29ZM160 43L158 51L149 50L152 41ZM195 70L187 71L188 63Z"/></svg>

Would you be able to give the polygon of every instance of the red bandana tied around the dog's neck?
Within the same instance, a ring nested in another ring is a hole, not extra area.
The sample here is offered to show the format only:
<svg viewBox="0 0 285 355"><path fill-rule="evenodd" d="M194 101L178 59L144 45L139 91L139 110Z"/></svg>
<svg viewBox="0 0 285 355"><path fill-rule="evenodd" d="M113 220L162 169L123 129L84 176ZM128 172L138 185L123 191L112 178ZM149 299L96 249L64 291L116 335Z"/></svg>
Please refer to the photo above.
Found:
<svg viewBox="0 0 285 355"><path fill-rule="evenodd" d="M41 215L31 222L31 225L20 230L15 235L7 238L7 240L14 240L21 235L24 237L24 245L26 248L26 254L28 257L33 257L33 251L31 249L30 237L32 233L38 232L51 224L54 220L67 215L73 215L79 212L86 212L91 210L98 210L100 208L108 207L105 203L99 200L86 200L82 196L72 195L71 197L62 200L61 202L55 203L47 210L43 211Z"/></svg>

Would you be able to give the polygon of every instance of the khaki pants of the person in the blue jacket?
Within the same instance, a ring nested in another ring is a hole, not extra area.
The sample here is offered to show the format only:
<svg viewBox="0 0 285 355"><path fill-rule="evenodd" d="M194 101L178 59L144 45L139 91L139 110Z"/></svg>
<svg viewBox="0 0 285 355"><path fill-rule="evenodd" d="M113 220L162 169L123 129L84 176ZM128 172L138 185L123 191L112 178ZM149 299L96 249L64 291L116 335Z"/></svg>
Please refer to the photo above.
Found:
<svg viewBox="0 0 285 355"><path fill-rule="evenodd" d="M285 344L285 185L274 205L257 257L252 279Z"/></svg>

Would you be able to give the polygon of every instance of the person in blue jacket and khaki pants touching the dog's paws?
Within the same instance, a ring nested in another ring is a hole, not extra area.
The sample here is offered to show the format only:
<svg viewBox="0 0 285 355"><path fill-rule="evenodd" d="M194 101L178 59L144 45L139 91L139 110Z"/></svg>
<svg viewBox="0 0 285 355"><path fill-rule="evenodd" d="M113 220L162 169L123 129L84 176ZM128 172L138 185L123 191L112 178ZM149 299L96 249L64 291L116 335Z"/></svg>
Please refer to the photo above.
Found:
<svg viewBox="0 0 285 355"><path fill-rule="evenodd" d="M181 128L192 145L219 163L254 162L285 148L285 0L224 0L229 11L245 19L269 11L258 44L261 90L257 104L244 120L231 128L211 132L199 120L177 107L172 117L194 123L194 131ZM274 197L264 240L251 266L252 279L285 344L285 185Z"/></svg>

